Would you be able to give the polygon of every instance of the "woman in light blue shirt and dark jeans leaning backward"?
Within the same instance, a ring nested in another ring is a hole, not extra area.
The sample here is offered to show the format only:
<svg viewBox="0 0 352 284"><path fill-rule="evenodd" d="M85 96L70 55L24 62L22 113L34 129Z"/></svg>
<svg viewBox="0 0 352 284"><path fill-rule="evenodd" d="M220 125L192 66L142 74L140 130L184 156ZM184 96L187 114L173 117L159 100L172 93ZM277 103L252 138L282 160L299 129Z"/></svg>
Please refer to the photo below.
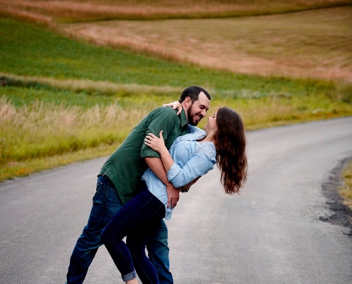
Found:
<svg viewBox="0 0 352 284"><path fill-rule="evenodd" d="M238 192L247 178L245 131L240 116L223 107L208 118L205 131L190 127L191 132L197 131L176 138L170 153L161 133L160 138L152 133L146 136L146 145L159 152L169 181L176 188L188 190L217 163L225 192ZM156 175L146 170L142 180L144 188L139 195L127 202L102 232L102 241L128 284L138 283L136 271L142 283L159 283L145 247L159 220L170 219L172 212L167 206L166 187ZM122 241L124 236L127 244Z"/></svg>

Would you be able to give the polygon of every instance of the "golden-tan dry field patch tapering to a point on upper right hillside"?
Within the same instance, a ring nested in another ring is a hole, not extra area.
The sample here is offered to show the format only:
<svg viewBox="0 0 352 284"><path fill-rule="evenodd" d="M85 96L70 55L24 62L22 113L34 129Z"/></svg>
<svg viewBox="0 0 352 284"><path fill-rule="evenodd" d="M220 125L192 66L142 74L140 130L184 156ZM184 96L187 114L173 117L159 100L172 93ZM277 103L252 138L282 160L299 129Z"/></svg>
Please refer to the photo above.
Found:
<svg viewBox="0 0 352 284"><path fill-rule="evenodd" d="M62 26L92 43L248 75L352 78L352 6L270 16Z"/></svg>

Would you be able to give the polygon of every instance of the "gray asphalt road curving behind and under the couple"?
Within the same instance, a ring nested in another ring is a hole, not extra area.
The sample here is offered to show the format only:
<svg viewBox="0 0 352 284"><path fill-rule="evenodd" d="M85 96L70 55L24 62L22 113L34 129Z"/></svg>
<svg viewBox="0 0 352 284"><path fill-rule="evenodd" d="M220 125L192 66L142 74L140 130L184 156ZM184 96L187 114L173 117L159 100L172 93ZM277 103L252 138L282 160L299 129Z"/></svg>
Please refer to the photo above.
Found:
<svg viewBox="0 0 352 284"><path fill-rule="evenodd" d="M352 283L352 239L319 221L321 190L352 156L352 118L247 133L250 176L227 196L218 170L181 195L169 226L175 283ZM65 283L105 158L0 185L0 283ZM105 248L85 283L122 283Z"/></svg>

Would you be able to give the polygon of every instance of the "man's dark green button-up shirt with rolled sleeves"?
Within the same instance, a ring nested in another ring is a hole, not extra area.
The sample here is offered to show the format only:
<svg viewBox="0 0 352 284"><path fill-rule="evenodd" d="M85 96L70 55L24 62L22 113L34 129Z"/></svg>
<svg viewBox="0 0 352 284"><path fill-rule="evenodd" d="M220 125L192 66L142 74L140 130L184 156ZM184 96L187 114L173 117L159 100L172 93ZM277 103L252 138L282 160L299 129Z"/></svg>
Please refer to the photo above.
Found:
<svg viewBox="0 0 352 284"><path fill-rule="evenodd" d="M171 107L154 109L132 129L121 146L102 166L100 175L107 175L110 178L123 203L138 193L138 184L148 168L144 158L160 157L159 153L144 144L144 138L148 133L154 133L159 137L161 130L166 148L169 149L178 136L188 131L185 111L182 110L181 114L177 115Z"/></svg>

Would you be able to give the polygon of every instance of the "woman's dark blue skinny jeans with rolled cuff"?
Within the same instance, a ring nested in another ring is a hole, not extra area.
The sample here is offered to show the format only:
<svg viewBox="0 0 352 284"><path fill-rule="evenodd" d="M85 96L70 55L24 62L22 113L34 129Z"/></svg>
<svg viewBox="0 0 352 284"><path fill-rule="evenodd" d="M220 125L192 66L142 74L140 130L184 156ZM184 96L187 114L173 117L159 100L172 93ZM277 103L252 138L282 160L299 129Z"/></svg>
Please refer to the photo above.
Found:
<svg viewBox="0 0 352 284"><path fill-rule="evenodd" d="M102 241L119 268L122 280L135 278L135 268L142 283L159 284L156 269L145 250L164 217L165 205L145 187L119 209L102 231ZM125 236L127 244L123 241Z"/></svg>

